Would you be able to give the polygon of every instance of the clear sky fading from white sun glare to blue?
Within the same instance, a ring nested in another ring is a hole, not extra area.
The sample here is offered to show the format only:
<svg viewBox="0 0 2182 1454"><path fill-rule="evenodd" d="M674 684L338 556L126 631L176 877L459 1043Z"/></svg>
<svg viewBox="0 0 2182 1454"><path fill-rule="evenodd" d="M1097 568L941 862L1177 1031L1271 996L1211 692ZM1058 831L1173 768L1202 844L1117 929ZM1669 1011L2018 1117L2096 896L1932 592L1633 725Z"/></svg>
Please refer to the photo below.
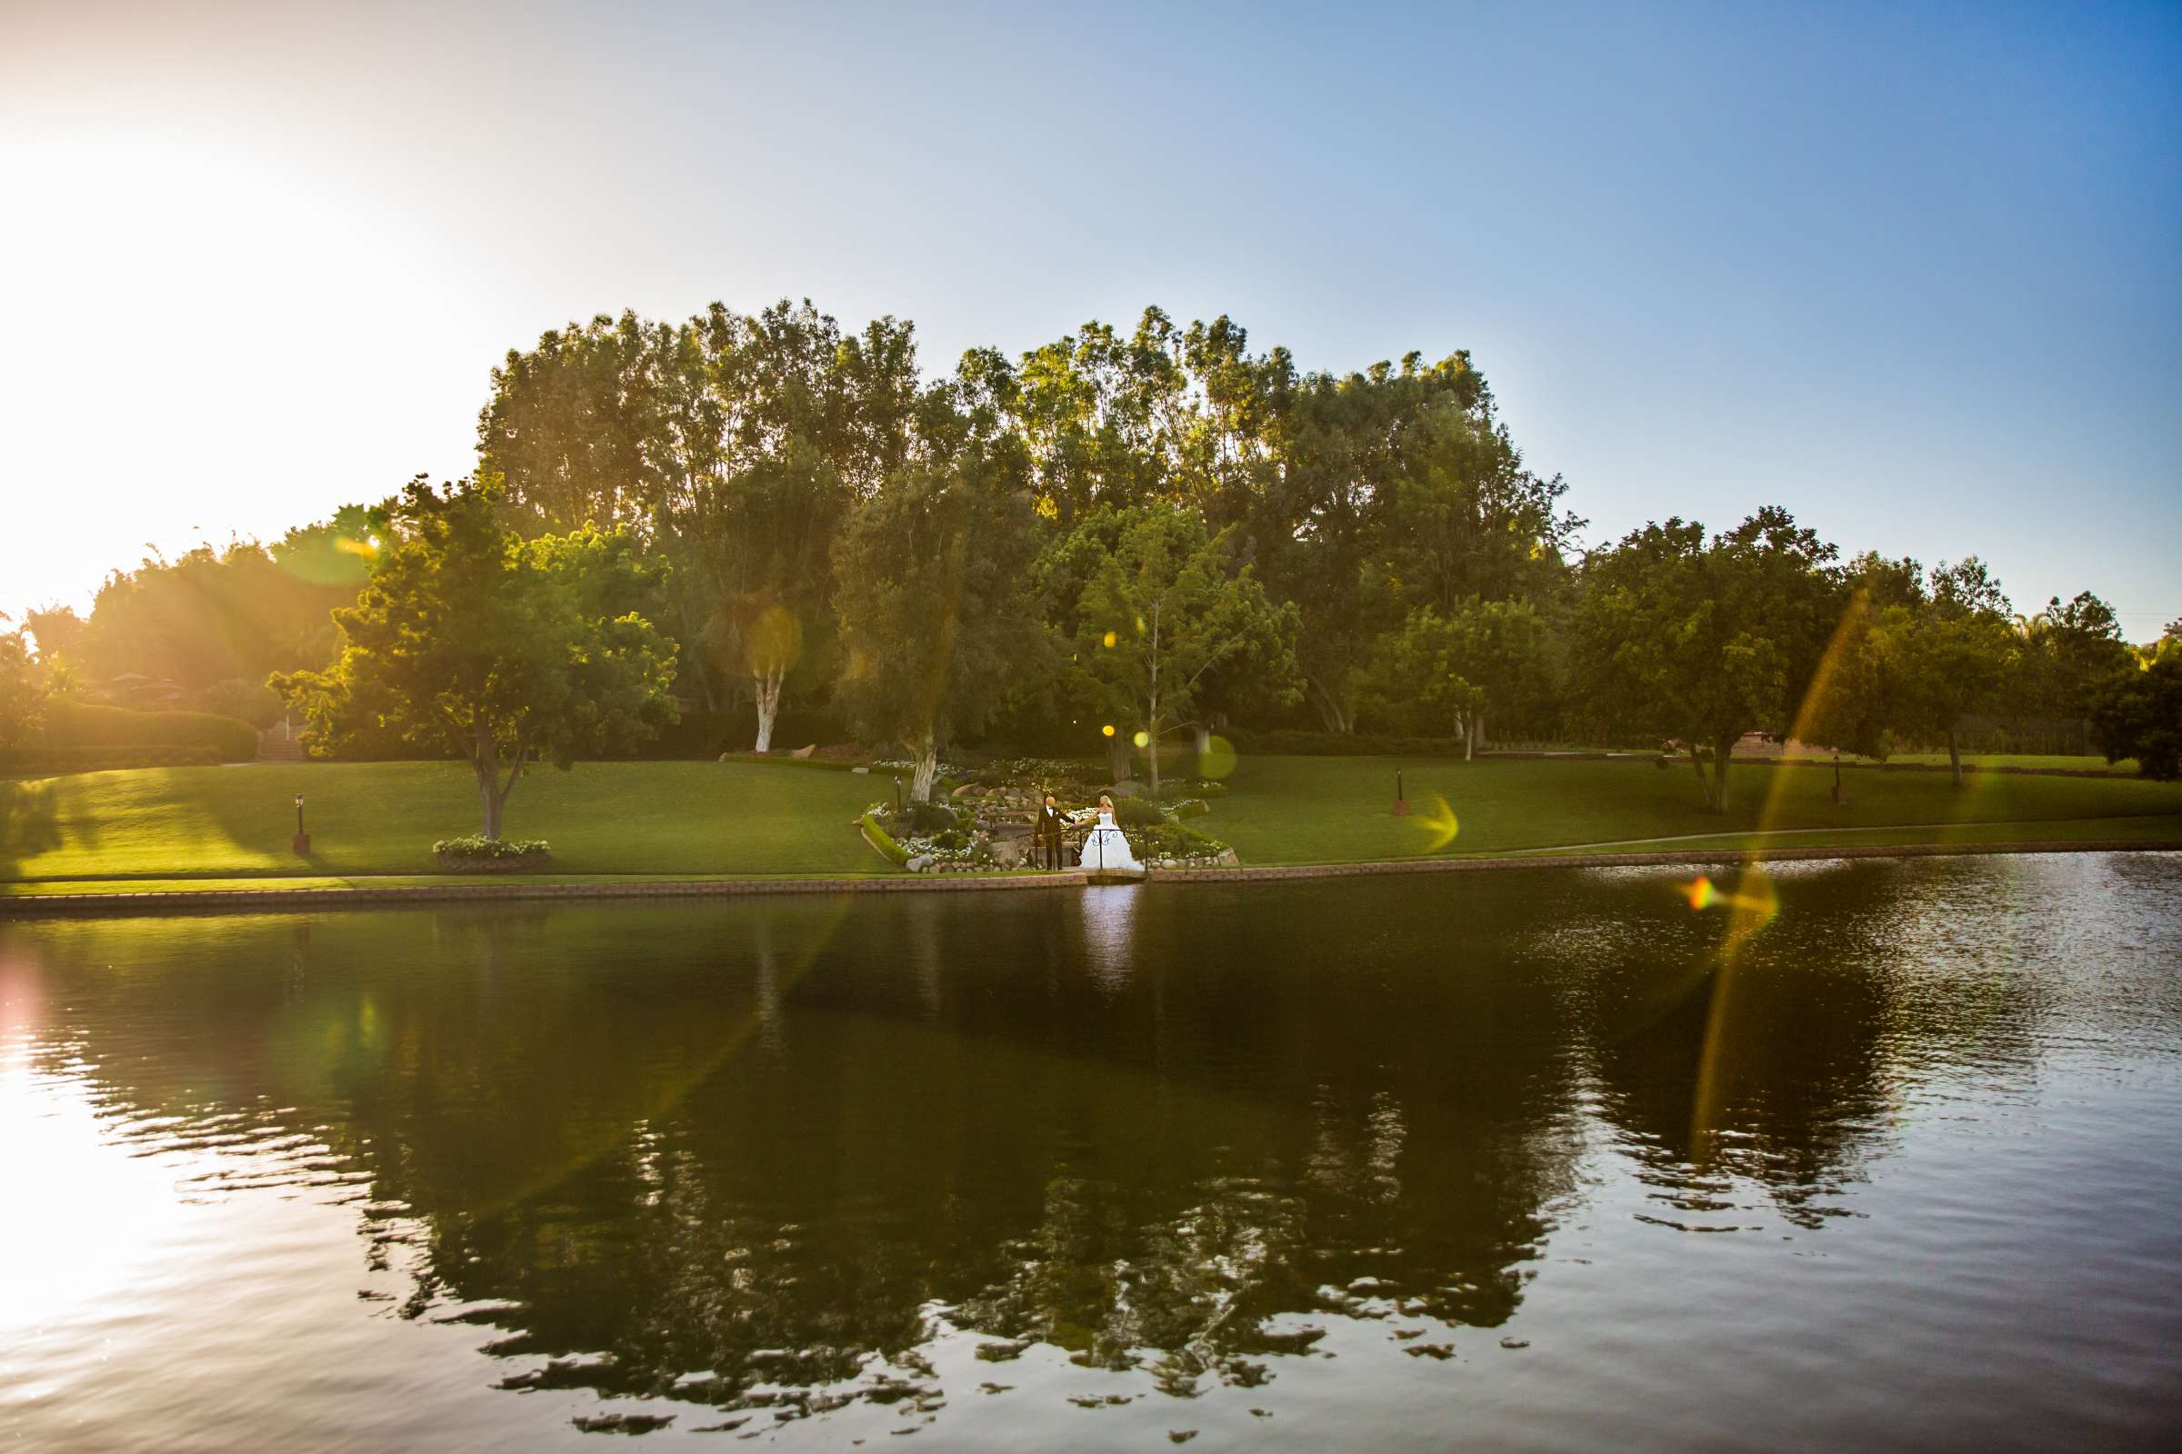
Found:
<svg viewBox="0 0 2182 1454"><path fill-rule="evenodd" d="M594 312L1473 349L1593 543L2182 615L2182 4L0 0L0 610L465 473Z"/></svg>

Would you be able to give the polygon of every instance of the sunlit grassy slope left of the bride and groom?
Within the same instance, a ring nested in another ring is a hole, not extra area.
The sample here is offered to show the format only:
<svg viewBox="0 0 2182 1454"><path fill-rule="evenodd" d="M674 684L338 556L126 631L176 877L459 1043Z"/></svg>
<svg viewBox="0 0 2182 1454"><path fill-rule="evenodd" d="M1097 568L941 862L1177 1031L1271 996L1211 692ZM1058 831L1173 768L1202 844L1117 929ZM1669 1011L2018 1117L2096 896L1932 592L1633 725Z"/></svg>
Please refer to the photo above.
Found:
<svg viewBox="0 0 2182 1454"><path fill-rule="evenodd" d="M511 837L556 874L862 874L849 828L884 780L757 763L585 763L508 798ZM303 793L312 857L288 850ZM260 763L0 780L0 881L425 874L432 841L476 833L460 763Z"/></svg>

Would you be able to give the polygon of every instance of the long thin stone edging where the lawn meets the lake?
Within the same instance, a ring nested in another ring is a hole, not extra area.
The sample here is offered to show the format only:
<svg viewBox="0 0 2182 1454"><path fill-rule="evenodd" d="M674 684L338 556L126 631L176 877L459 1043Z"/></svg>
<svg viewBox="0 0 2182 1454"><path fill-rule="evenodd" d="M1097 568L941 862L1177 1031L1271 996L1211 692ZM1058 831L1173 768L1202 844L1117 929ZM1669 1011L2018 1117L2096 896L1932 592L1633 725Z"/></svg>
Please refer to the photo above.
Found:
<svg viewBox="0 0 2182 1454"><path fill-rule="evenodd" d="M2010 852L2182 852L2182 839L2062 839L2029 844L1853 844L1835 848L1767 848L1763 863L1824 859L1946 859ZM1497 859L1396 859L1372 863L1285 863L1242 868L1154 868L1165 883L1292 883L1300 879L1370 879L1390 874L1462 874L1510 868L1647 868L1661 863L1737 865L1737 848L1669 852L1567 852ZM679 883L445 883L384 889L157 889L111 894L0 896L0 918L118 913L271 913L369 909L395 905L618 900L618 898L746 898L764 894L934 894L980 889L1087 887L1082 872L1054 874L906 874L899 879L694 879Z"/></svg>

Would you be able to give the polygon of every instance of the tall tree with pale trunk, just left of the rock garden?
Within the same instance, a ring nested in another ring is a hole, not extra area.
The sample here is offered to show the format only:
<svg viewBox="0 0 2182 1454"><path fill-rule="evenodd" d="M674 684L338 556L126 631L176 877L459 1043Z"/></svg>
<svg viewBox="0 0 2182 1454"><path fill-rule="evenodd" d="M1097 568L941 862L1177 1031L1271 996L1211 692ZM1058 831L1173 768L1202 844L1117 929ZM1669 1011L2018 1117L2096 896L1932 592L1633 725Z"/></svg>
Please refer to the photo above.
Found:
<svg viewBox="0 0 2182 1454"><path fill-rule="evenodd" d="M1047 654L1019 451L969 438L945 386L921 414L921 447L834 545L834 702L866 739L906 746L910 796L930 802L940 750L1028 689Z"/></svg>

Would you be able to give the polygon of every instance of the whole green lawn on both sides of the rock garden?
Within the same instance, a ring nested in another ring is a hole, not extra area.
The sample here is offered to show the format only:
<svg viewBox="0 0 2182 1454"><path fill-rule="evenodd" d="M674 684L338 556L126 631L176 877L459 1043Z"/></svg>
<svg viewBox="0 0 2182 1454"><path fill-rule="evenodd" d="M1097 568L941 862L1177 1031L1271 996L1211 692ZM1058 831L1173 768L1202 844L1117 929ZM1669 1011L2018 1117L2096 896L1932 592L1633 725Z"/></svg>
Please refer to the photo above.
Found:
<svg viewBox="0 0 2182 1454"><path fill-rule="evenodd" d="M1438 852L1506 855L1722 848L1774 831L1783 846L2034 839L2182 839L2182 785L2136 778L1850 772L1737 765L1726 820L1698 802L1687 765L1650 761L1244 759L1228 796L1194 820L1244 863L1338 863L1434 852L1444 798L1455 837ZM1778 785L1770 815L1761 807ZM312 857L288 850L305 796ZM762 763L585 763L537 772L508 802L513 837L552 841L552 879L890 872L853 817L884 778ZM473 833L476 791L456 763L264 763L0 780L0 894L68 887L415 885L432 839ZM96 883L105 881L105 885ZM127 883L116 883L127 881ZM476 883L478 879L463 879Z"/></svg>

